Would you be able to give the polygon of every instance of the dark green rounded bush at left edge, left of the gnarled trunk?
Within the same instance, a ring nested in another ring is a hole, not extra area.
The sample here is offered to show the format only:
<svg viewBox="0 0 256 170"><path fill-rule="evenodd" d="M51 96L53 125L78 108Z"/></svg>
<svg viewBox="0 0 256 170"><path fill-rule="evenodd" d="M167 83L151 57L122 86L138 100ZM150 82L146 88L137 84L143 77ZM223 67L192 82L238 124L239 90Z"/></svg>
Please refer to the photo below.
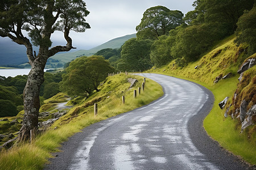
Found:
<svg viewBox="0 0 256 170"><path fill-rule="evenodd" d="M18 110L13 101L0 99L0 117L16 116Z"/></svg>

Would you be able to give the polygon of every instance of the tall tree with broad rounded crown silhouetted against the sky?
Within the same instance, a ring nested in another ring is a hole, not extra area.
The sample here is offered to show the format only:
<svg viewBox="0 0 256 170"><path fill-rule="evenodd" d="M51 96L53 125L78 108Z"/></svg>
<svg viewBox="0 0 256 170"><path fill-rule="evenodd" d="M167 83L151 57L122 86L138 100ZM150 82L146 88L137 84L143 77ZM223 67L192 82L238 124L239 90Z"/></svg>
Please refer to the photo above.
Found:
<svg viewBox="0 0 256 170"><path fill-rule="evenodd" d="M175 10L171 11L164 6L148 8L137 25L137 37L141 39L157 40L159 36L167 35L171 29L183 23L183 13Z"/></svg>

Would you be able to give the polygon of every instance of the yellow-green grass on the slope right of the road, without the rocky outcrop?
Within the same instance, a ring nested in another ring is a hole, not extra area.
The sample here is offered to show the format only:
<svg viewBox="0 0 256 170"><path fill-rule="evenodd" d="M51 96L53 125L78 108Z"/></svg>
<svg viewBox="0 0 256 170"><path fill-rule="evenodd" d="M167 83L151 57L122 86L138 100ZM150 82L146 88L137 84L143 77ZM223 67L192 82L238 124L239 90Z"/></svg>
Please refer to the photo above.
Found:
<svg viewBox="0 0 256 170"><path fill-rule="evenodd" d="M246 128L243 133L240 133L241 123L238 122L239 120L232 119L231 117L225 118L224 113L226 109L221 110L218 106L218 103L226 96L232 99L239 83L239 75L236 71L246 59L244 53L246 45L236 46L233 41L233 36L228 37L201 59L188 63L183 68L177 67L174 64L175 62L172 61L166 66L155 69L153 67L147 72L191 80L212 91L215 98L213 109L204 120L204 128L208 135L218 141L222 147L233 152L235 155L241 156L246 162L256 164L255 125ZM195 69L196 66L200 67ZM255 66L251 70L255 70ZM222 79L217 84L213 83L216 76L220 74L224 76L228 73L233 73L232 78Z"/></svg>

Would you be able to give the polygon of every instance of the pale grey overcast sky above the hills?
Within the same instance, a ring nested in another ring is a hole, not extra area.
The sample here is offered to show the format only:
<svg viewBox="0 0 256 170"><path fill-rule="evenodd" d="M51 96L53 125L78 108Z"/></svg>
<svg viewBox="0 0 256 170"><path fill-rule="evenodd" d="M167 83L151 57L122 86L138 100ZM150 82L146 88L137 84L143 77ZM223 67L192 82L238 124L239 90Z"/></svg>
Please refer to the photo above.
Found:
<svg viewBox="0 0 256 170"><path fill-rule="evenodd" d="M194 9L195 0L85 0L90 14L86 21L90 29L84 33L72 32L73 46L77 49L91 49L116 37L136 33L136 26L141 23L143 12L147 8L162 5L170 10L180 10L185 15ZM61 33L54 33L54 42L63 40ZM62 44L65 45L64 41Z"/></svg>

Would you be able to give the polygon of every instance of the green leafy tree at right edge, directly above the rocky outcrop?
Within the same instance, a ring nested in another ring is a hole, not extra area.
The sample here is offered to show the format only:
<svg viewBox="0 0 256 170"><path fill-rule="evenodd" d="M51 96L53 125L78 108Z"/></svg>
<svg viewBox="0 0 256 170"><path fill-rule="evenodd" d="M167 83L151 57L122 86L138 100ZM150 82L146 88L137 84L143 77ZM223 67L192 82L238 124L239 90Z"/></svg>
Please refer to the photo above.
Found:
<svg viewBox="0 0 256 170"><path fill-rule="evenodd" d="M236 42L249 44L249 54L256 53L256 3L250 11L245 11L237 22Z"/></svg>

